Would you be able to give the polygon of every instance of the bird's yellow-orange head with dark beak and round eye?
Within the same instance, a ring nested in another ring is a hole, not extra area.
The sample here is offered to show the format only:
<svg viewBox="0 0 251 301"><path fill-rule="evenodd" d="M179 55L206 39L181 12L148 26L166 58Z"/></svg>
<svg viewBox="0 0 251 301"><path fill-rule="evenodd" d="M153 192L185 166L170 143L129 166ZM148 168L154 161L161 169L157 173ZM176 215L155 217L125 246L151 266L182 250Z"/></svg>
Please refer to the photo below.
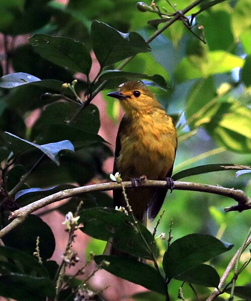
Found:
<svg viewBox="0 0 251 301"><path fill-rule="evenodd" d="M154 94L141 81L128 81L118 91L109 92L107 95L117 98L128 116L161 107Z"/></svg>

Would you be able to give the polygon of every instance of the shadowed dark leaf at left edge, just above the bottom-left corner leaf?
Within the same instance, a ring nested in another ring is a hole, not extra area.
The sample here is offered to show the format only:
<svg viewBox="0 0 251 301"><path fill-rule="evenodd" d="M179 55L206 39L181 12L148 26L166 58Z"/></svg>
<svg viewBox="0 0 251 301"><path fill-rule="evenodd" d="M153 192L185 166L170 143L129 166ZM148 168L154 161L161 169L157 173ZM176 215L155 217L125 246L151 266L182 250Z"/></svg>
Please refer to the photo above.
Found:
<svg viewBox="0 0 251 301"><path fill-rule="evenodd" d="M35 246L36 241L34 241L34 250ZM13 261L20 273L29 275L35 272L35 275L37 276L48 276L46 269L37 261L37 259L35 259L34 256L28 255L22 251L7 246L0 247L0 255L1 264L2 262L6 262L6 259ZM10 272L12 272L12 270L10 270Z"/></svg>

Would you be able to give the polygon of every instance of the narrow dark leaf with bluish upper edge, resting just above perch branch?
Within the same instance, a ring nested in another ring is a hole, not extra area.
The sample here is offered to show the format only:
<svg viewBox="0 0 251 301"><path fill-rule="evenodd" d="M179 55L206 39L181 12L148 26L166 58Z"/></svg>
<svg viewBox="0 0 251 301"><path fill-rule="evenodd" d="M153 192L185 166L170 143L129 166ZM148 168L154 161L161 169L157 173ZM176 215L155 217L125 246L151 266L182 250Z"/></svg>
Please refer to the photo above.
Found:
<svg viewBox="0 0 251 301"><path fill-rule="evenodd" d="M15 201L20 207L23 207L45 196L74 187L76 186L71 184L62 184L49 188L28 188L18 191L15 195Z"/></svg>

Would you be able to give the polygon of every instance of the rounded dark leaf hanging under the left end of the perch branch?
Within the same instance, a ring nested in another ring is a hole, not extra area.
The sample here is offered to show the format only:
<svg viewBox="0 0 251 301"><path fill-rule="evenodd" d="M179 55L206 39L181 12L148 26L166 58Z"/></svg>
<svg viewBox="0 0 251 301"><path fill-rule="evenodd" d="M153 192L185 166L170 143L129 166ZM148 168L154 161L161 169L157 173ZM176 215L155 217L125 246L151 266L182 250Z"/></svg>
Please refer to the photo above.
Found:
<svg viewBox="0 0 251 301"><path fill-rule="evenodd" d="M55 250L55 239L50 227L35 215L29 215L22 224L5 235L3 241L6 246L33 255L37 236L39 236L40 257L45 261Z"/></svg>

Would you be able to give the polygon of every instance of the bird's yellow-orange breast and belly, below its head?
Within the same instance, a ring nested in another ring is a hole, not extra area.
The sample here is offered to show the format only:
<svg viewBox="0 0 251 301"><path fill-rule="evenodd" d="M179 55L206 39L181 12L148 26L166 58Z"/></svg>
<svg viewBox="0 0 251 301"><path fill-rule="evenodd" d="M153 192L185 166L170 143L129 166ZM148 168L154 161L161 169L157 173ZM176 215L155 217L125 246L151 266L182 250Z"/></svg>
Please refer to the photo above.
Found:
<svg viewBox="0 0 251 301"><path fill-rule="evenodd" d="M164 110L140 114L121 131L116 165L122 179L146 175L163 179L171 170L177 147L172 119Z"/></svg>

